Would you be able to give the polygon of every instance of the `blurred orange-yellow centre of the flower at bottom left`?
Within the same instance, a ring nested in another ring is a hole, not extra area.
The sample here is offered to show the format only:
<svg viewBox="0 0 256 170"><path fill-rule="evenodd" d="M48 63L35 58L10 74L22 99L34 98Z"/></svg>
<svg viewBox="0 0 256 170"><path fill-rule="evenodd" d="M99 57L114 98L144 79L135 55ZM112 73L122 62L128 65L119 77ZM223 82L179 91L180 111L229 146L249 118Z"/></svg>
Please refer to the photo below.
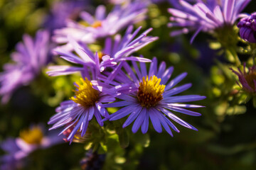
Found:
<svg viewBox="0 0 256 170"><path fill-rule="evenodd" d="M36 126L29 130L22 130L20 132L20 137L28 144L39 145L41 143L41 140L43 139L43 132L41 128Z"/></svg>

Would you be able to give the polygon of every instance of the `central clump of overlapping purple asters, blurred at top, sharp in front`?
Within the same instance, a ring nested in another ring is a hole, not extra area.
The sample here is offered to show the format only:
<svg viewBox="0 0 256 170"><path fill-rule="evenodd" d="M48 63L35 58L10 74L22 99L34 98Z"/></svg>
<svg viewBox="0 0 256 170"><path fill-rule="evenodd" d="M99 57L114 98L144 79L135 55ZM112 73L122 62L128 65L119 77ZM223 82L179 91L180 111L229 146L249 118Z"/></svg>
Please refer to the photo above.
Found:
<svg viewBox="0 0 256 170"><path fill-rule="evenodd" d="M199 101L205 96L176 96L191 87L191 84L176 86L186 77L186 73L170 81L174 67L166 69L166 63L161 62L158 68L156 57L151 62L143 56L132 55L158 39L147 35L152 28L139 35L142 27L133 31L133 26L129 26L123 37L117 34L128 24L141 21L146 5L142 5L142 1L133 1L124 6L116 6L107 15L105 11L104 6L98 6L95 17L82 12L80 16L89 23L88 26L70 21L67 27L55 31L53 40L67 45L56 47L53 51L75 65L51 66L47 73L50 76L60 76L78 72L81 79L75 82L75 96L60 103L56 109L57 114L50 118L48 124L53 124L50 130L64 126L60 134L67 135L66 140L71 143L85 135L92 118L103 126L104 121L119 120L127 115L129 117L123 128L134 121L132 132L142 128L142 133L146 133L149 118L156 132L161 132L163 126L171 136L171 129L179 132L171 120L196 130L176 115L201 115L186 108L202 106L184 102ZM92 52L88 44L99 38L105 38L105 45L102 50ZM129 66L129 61L132 61L133 67ZM146 62L151 62L149 72L146 71ZM106 108L111 107L123 108L110 115Z"/></svg>

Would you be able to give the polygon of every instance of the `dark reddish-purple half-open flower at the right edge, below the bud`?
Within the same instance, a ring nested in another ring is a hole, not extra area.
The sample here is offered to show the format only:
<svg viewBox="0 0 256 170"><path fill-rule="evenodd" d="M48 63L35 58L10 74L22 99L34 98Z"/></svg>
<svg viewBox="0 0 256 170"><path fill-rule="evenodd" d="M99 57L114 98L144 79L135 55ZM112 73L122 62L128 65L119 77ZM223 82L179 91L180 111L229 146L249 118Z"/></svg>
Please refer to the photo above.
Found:
<svg viewBox="0 0 256 170"><path fill-rule="evenodd" d="M238 75L238 79L240 81L240 85L238 82L238 85L242 87L244 91L247 91L247 93L256 94L256 67L248 67L249 71L245 72L245 64L243 65L244 69L243 72L238 68L239 72L236 72L234 69L231 69L233 73Z"/></svg>

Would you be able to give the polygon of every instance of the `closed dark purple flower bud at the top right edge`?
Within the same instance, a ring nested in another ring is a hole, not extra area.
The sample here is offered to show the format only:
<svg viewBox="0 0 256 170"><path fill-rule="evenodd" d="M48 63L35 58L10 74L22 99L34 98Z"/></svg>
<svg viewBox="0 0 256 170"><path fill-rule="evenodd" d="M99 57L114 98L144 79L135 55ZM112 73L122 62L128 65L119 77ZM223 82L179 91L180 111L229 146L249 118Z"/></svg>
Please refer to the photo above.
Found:
<svg viewBox="0 0 256 170"><path fill-rule="evenodd" d="M247 42L256 43L256 12L242 18L238 23L240 36Z"/></svg>

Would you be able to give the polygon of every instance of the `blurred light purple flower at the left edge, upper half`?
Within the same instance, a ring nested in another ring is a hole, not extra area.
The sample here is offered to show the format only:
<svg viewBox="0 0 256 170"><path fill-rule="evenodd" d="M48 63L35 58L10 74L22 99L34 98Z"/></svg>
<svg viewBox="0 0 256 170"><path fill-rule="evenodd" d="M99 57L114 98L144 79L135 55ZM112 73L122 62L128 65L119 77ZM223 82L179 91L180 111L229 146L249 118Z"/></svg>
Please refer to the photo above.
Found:
<svg viewBox="0 0 256 170"><path fill-rule="evenodd" d="M4 65L0 73L1 102L6 103L20 86L29 84L49 62L49 33L39 30L36 38L23 35L23 42L18 42L16 52L11 54L14 63Z"/></svg>

